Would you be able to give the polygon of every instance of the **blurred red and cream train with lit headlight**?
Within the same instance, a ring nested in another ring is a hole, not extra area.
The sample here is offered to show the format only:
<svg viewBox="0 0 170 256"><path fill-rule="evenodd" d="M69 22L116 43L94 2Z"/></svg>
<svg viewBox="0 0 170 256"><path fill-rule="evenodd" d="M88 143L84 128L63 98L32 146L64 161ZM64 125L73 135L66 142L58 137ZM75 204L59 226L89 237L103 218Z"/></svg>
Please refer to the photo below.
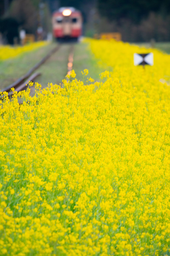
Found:
<svg viewBox="0 0 170 256"><path fill-rule="evenodd" d="M81 12L73 7L61 7L52 16L53 36L62 39L74 39L75 41L82 33Z"/></svg>

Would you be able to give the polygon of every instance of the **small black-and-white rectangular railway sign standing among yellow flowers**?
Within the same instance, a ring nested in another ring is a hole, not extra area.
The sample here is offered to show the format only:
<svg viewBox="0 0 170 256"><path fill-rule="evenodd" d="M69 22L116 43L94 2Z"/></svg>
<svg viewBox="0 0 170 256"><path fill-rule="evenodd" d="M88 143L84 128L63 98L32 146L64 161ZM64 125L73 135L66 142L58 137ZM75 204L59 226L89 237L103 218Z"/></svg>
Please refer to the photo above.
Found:
<svg viewBox="0 0 170 256"><path fill-rule="evenodd" d="M134 53L134 65L151 65L153 66L153 53Z"/></svg>

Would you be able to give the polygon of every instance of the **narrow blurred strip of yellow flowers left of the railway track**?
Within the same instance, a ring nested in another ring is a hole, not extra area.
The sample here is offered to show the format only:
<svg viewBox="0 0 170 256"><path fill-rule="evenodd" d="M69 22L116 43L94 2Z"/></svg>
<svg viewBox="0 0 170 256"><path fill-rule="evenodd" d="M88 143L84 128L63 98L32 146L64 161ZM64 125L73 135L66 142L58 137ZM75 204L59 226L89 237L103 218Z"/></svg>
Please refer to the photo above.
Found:
<svg viewBox="0 0 170 256"><path fill-rule="evenodd" d="M48 42L46 41L40 41L26 44L25 46L0 46L0 61L18 57L22 53L30 52L47 44Z"/></svg>

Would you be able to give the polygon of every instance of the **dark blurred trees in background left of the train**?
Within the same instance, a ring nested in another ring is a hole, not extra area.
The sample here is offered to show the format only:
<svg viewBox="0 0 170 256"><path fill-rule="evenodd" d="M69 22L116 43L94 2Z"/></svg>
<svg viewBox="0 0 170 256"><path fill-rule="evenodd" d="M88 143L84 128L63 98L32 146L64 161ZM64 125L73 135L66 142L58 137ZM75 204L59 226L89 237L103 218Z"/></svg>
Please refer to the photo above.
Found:
<svg viewBox="0 0 170 256"><path fill-rule="evenodd" d="M42 39L52 31L51 13L46 0L0 0L0 33L3 43L19 42L19 31L33 34L38 38L38 28L42 27Z"/></svg>

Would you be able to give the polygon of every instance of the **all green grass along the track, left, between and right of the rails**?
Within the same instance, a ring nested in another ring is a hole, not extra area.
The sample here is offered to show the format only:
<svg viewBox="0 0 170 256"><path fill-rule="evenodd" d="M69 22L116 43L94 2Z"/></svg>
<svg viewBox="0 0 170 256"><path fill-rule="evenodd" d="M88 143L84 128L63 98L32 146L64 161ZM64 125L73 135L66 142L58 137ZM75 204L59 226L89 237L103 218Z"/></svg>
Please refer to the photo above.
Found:
<svg viewBox="0 0 170 256"><path fill-rule="evenodd" d="M55 46L56 43L51 43L32 52L23 53L16 58L0 61L0 89L2 90L26 74L33 65L38 63ZM42 88L46 87L49 82L53 84L62 82L67 74L69 49L70 44L62 44L60 50L40 66L38 72L41 72L42 75L36 78L35 81L39 82ZM81 71L84 69L89 69L89 76L92 76L95 80L99 80L99 74L104 71L104 68L99 68L95 60L91 58L85 43L74 44L73 69L77 73L77 79L80 80L83 78Z"/></svg>

